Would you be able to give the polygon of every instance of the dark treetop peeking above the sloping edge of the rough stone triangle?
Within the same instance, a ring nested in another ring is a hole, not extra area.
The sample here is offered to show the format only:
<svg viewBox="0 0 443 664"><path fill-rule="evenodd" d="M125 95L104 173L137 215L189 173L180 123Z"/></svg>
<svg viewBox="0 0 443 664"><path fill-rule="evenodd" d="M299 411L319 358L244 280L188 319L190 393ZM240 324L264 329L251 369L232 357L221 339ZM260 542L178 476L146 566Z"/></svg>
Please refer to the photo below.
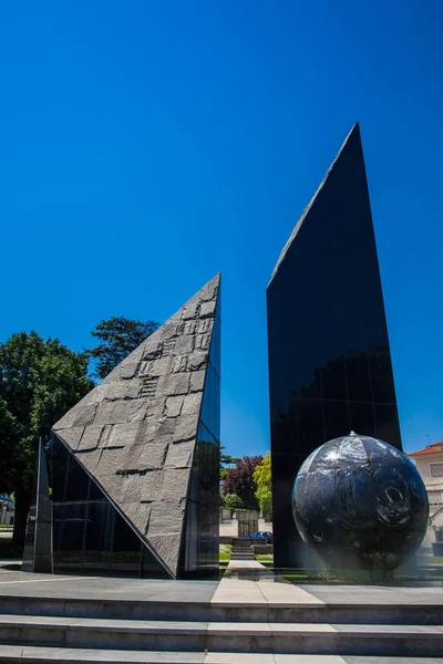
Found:
<svg viewBox="0 0 443 664"><path fill-rule="evenodd" d="M91 334L99 339L101 343L95 349L85 350L85 353L96 361L95 375L99 378L105 378L158 326L159 323L154 321L132 321L123 317L113 317L106 321L100 321Z"/></svg>

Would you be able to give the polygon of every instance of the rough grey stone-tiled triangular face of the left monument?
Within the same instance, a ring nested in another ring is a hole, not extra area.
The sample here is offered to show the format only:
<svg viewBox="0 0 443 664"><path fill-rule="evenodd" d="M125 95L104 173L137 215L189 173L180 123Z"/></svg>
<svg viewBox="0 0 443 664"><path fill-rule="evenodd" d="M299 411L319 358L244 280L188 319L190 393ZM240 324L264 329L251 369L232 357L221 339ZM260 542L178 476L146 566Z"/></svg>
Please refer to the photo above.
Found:
<svg viewBox="0 0 443 664"><path fill-rule="evenodd" d="M53 427L173 575L218 288L219 276Z"/></svg>

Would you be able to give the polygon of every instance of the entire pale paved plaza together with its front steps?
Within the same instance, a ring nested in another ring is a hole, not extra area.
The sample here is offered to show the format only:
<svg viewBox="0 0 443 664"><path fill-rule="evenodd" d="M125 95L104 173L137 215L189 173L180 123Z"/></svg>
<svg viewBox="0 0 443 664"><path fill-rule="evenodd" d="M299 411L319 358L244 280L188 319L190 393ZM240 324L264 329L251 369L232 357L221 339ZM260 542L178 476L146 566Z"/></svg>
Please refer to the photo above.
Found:
<svg viewBox="0 0 443 664"><path fill-rule="evenodd" d="M254 561L233 561L219 581L47 575L0 561L0 663L443 663L442 594L299 585Z"/></svg>

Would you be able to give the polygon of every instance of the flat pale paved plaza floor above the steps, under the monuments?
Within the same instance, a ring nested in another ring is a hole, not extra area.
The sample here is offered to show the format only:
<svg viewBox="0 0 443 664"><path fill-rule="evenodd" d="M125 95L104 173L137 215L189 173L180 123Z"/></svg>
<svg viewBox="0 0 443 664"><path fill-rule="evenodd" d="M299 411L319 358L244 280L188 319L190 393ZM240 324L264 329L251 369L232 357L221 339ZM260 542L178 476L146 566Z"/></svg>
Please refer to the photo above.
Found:
<svg viewBox="0 0 443 664"><path fill-rule="evenodd" d="M443 603L443 588L388 585L297 585L271 573L260 575L264 566L233 561L219 581L173 581L155 579L110 579L33 574L16 570L18 563L0 561L0 598L59 598L114 601L264 604L432 604Z"/></svg>

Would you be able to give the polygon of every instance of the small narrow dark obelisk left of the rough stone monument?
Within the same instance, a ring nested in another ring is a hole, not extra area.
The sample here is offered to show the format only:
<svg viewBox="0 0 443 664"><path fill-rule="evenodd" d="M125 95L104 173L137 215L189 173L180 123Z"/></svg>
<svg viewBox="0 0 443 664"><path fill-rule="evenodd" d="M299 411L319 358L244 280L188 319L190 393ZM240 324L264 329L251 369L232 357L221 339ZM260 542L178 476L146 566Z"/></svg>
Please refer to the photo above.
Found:
<svg viewBox="0 0 443 664"><path fill-rule="evenodd" d="M41 438L27 521L22 570L52 573L52 505L49 495L47 457Z"/></svg>

